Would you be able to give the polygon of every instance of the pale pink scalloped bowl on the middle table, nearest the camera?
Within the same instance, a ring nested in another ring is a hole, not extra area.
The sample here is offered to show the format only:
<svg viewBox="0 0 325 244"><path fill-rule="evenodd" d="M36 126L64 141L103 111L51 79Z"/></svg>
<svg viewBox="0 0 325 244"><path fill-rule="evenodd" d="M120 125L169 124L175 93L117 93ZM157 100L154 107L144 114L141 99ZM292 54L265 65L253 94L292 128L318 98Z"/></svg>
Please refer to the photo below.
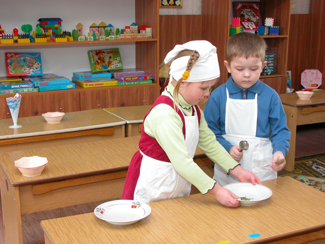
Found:
<svg viewBox="0 0 325 244"><path fill-rule="evenodd" d="M40 156L24 156L14 161L14 166L17 167L24 176L39 175L43 171L46 164L47 158Z"/></svg>

